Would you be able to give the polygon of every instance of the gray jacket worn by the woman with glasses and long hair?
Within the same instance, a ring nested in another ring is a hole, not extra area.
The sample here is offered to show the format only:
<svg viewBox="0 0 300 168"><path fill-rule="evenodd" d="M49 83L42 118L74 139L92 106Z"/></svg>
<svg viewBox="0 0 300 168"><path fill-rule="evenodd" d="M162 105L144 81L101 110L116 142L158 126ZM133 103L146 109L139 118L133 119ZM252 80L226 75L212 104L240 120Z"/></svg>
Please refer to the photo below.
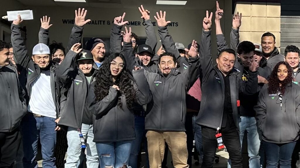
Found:
<svg viewBox="0 0 300 168"><path fill-rule="evenodd" d="M149 84L143 69L133 71L135 83L136 103L148 104L152 100ZM95 82L91 84L88 93L88 109L96 116L94 120L94 142L116 142L134 140L134 113L126 105L125 95L110 87L104 99L95 101ZM122 109L118 106L118 97L121 96Z"/></svg>

